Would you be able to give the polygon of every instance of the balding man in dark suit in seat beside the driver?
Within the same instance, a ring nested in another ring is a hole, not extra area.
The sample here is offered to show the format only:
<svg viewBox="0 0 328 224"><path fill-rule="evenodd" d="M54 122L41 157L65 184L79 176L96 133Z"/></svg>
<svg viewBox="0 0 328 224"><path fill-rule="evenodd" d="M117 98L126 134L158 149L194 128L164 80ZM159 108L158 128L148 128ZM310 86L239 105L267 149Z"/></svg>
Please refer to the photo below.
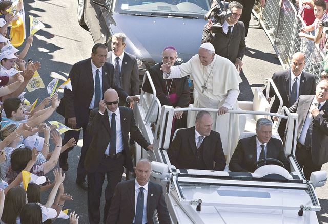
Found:
<svg viewBox="0 0 328 224"><path fill-rule="evenodd" d="M195 127L179 130L168 149L171 164L177 169L223 171L226 158L220 134L211 130L212 124L210 113L200 111Z"/></svg>

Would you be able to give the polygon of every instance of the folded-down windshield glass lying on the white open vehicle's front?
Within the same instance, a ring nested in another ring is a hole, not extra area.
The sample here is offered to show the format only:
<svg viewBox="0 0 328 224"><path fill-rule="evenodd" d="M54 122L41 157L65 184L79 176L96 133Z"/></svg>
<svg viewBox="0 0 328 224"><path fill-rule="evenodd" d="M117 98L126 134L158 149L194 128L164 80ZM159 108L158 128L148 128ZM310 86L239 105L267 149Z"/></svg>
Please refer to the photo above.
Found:
<svg viewBox="0 0 328 224"><path fill-rule="evenodd" d="M229 201L235 205L266 206L312 206L312 200L306 189L271 188L257 186L212 185L188 183L179 180L180 192L186 200L198 200L206 203ZM283 198L288 198L284 200Z"/></svg>

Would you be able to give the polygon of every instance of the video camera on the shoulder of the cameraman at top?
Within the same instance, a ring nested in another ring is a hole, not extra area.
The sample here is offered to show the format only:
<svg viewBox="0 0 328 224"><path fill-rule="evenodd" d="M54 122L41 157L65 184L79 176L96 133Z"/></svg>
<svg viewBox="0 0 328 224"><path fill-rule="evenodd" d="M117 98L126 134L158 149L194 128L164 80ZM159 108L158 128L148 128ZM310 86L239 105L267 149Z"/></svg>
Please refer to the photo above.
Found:
<svg viewBox="0 0 328 224"><path fill-rule="evenodd" d="M206 14L205 20L211 19L213 22L212 32L217 33L222 30L224 20L232 15L230 9L226 10L226 1L218 1Z"/></svg>

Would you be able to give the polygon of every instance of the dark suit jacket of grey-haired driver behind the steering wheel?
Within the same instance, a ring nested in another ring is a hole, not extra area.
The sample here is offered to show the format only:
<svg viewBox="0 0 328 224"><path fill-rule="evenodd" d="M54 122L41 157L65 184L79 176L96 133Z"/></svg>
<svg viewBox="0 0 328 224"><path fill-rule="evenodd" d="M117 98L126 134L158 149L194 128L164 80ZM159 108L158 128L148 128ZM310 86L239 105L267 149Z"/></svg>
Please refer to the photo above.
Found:
<svg viewBox="0 0 328 224"><path fill-rule="evenodd" d="M284 154L279 139L271 138L267 144L267 158L277 159L283 163L286 170L290 170L289 162ZM256 135L240 139L229 163L229 170L233 172L251 172L256 162Z"/></svg>

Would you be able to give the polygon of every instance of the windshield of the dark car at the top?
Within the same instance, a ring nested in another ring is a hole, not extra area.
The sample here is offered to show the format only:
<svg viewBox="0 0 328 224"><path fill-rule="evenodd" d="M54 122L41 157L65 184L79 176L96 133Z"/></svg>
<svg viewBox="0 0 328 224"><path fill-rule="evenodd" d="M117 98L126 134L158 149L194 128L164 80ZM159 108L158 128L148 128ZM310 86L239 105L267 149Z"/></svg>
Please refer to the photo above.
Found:
<svg viewBox="0 0 328 224"><path fill-rule="evenodd" d="M210 0L118 0L116 11L150 16L204 15L211 8Z"/></svg>

